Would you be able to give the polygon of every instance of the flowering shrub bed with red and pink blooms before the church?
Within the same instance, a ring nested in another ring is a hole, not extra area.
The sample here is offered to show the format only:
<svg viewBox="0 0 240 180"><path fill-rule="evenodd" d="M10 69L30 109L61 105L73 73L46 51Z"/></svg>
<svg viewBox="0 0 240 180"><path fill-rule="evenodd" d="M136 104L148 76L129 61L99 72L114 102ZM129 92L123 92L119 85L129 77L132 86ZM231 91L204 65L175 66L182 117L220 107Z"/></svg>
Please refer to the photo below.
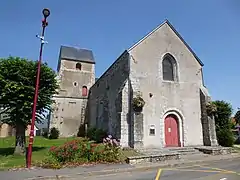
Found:
<svg viewBox="0 0 240 180"><path fill-rule="evenodd" d="M96 144L88 139L79 138L51 147L50 157L61 164L86 162L118 162L120 161L120 147L110 140ZM54 161L53 161L54 162Z"/></svg>

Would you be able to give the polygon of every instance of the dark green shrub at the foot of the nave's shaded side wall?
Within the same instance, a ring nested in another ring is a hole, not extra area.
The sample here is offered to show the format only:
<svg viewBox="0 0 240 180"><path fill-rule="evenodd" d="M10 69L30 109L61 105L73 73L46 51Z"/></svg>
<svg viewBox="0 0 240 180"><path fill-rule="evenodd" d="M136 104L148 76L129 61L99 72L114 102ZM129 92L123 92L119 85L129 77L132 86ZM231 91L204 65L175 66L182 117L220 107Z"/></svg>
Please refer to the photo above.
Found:
<svg viewBox="0 0 240 180"><path fill-rule="evenodd" d="M87 137L96 143L103 142L103 138L107 137L107 132L102 129L89 128L87 131Z"/></svg>

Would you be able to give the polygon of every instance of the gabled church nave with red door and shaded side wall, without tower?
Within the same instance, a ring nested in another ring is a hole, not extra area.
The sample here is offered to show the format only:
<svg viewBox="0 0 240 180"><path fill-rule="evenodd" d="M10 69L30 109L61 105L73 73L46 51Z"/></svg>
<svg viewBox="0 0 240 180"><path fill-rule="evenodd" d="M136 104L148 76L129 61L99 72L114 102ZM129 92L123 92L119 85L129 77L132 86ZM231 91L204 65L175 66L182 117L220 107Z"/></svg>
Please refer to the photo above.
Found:
<svg viewBox="0 0 240 180"><path fill-rule="evenodd" d="M196 54L165 21L88 84L85 123L108 131L124 147L217 144L206 116L209 94L202 68ZM145 101L140 112L133 107L138 96ZM72 111L78 113L80 106Z"/></svg>

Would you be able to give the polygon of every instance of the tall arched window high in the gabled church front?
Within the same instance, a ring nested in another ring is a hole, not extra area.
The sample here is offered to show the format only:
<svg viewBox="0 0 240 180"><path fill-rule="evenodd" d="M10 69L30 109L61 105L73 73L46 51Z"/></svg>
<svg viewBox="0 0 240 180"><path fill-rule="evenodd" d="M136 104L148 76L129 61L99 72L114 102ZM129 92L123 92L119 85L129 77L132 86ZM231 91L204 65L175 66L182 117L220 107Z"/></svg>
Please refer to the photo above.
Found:
<svg viewBox="0 0 240 180"><path fill-rule="evenodd" d="M163 80L175 81L177 80L177 63L174 57L166 54L162 61Z"/></svg>

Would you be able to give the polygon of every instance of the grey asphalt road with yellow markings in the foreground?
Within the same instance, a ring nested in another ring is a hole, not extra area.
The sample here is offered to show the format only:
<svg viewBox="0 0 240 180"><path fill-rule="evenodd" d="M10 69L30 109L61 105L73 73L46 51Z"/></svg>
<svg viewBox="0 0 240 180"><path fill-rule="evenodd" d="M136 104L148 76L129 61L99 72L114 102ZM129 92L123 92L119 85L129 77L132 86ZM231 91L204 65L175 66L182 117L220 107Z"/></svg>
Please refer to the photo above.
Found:
<svg viewBox="0 0 240 180"><path fill-rule="evenodd" d="M142 172L79 177L86 180L240 180L240 158L217 163L180 166Z"/></svg>

